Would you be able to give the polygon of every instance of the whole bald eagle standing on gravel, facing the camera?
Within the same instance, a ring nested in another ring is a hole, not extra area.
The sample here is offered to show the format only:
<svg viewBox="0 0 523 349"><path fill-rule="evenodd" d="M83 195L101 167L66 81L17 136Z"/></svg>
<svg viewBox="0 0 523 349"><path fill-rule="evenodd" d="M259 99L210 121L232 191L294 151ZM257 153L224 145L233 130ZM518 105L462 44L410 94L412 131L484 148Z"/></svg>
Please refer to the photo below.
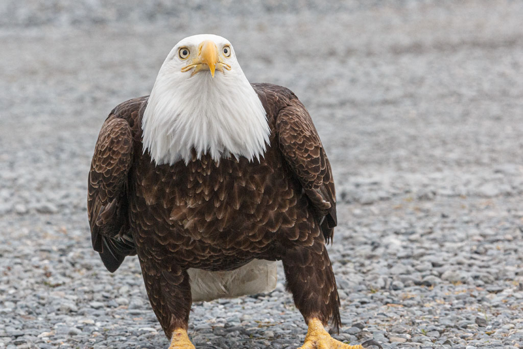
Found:
<svg viewBox="0 0 523 349"><path fill-rule="evenodd" d="M359 348L340 325L325 244L331 165L289 89L247 81L231 43L196 35L169 52L150 96L118 105L88 177L92 243L110 272L138 255L170 348L194 348L191 302L270 291L274 261L309 331L304 349Z"/></svg>

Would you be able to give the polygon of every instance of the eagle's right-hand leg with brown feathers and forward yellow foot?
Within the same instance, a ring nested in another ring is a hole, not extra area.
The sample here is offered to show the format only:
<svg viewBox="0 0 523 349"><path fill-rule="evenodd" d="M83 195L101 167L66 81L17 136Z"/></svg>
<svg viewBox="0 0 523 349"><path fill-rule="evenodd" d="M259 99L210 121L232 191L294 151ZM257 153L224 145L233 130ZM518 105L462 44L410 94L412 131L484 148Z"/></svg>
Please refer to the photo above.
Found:
<svg viewBox="0 0 523 349"><path fill-rule="evenodd" d="M323 239L317 239L312 246L295 246L287 250L282 262L287 289L309 326L300 349L363 348L339 342L325 331L329 320L335 329L341 321L336 280Z"/></svg>

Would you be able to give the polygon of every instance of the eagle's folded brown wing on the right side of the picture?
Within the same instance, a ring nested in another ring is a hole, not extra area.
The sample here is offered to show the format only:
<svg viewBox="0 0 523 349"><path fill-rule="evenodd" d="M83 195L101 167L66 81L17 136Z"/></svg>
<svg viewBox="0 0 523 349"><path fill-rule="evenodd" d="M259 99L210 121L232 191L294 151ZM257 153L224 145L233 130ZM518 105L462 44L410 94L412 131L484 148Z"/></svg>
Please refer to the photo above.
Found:
<svg viewBox="0 0 523 349"><path fill-rule="evenodd" d="M298 98L290 99L289 105L279 111L276 132L279 149L318 214L328 242L337 224L331 164L311 116Z"/></svg>

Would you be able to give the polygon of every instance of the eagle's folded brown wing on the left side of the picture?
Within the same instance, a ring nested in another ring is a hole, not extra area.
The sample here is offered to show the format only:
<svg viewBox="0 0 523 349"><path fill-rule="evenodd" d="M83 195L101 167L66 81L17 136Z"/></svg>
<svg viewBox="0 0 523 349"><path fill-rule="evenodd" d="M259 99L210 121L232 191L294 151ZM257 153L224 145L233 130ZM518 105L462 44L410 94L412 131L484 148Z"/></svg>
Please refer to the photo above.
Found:
<svg viewBox="0 0 523 349"><path fill-rule="evenodd" d="M102 126L88 179L87 211L93 248L110 272L134 255L128 219L128 174L133 137L128 119L141 103L129 100L116 107ZM140 101L141 102L141 101Z"/></svg>

